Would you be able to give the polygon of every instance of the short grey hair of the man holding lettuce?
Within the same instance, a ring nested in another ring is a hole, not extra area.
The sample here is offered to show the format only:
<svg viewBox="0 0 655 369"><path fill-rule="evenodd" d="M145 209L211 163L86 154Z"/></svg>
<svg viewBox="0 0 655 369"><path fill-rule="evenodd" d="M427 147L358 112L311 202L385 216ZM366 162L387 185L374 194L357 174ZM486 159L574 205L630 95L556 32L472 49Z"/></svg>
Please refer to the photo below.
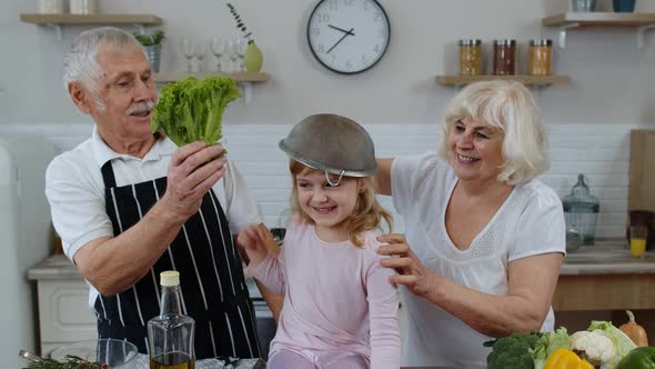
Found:
<svg viewBox="0 0 655 369"><path fill-rule="evenodd" d="M93 89L102 76L97 58L101 46L115 52L131 52L133 48L142 50L132 34L114 27L95 28L80 33L73 40L70 51L63 56L62 82L67 91L72 81Z"/></svg>

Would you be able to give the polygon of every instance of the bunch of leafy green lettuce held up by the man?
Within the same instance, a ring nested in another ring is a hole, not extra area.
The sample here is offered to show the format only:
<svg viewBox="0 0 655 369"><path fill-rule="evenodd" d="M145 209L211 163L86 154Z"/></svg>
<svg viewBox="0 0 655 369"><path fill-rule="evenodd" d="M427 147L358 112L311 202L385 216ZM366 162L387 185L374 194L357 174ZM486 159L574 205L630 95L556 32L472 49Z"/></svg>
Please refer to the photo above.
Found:
<svg viewBox="0 0 655 369"><path fill-rule="evenodd" d="M223 138L223 111L240 97L234 81L221 76L170 83L154 108L152 132L163 130L179 147L198 140L215 144Z"/></svg>

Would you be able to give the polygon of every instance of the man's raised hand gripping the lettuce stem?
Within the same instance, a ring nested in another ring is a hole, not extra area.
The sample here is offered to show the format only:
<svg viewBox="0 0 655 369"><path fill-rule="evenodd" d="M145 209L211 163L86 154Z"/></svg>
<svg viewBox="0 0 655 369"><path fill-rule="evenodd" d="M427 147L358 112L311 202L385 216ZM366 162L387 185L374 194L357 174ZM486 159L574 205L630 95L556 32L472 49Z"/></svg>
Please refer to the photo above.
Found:
<svg viewBox="0 0 655 369"><path fill-rule="evenodd" d="M222 151L222 146L206 147L202 141L175 150L162 198L169 209L184 219L198 211L202 197L225 174L228 159L214 159Z"/></svg>

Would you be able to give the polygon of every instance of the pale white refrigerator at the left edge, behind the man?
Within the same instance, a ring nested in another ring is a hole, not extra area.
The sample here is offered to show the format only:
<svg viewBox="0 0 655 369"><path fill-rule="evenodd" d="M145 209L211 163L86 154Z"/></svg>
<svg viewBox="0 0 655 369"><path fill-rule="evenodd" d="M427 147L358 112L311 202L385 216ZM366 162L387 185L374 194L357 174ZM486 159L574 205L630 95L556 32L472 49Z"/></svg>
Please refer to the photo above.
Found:
<svg viewBox="0 0 655 369"><path fill-rule="evenodd" d="M44 193L46 168L54 157L44 137L0 137L0 360L23 368L20 349L37 352L36 287L27 270L51 252L53 231Z"/></svg>

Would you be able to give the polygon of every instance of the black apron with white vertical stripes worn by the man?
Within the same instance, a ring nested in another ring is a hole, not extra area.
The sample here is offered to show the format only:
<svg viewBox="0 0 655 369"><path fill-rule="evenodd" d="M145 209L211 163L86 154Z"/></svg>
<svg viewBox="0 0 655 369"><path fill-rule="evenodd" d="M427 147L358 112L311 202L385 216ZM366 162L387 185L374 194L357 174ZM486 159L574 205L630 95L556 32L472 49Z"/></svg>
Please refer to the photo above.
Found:
<svg viewBox="0 0 655 369"><path fill-rule="evenodd" d="M118 236L135 225L163 196L167 178L115 186L111 161L102 166L107 213ZM114 296L98 296L100 338L125 339L148 353L148 320L159 315L159 273L180 272L182 311L195 320L195 357L260 357L254 309L228 220L209 191L149 273Z"/></svg>

